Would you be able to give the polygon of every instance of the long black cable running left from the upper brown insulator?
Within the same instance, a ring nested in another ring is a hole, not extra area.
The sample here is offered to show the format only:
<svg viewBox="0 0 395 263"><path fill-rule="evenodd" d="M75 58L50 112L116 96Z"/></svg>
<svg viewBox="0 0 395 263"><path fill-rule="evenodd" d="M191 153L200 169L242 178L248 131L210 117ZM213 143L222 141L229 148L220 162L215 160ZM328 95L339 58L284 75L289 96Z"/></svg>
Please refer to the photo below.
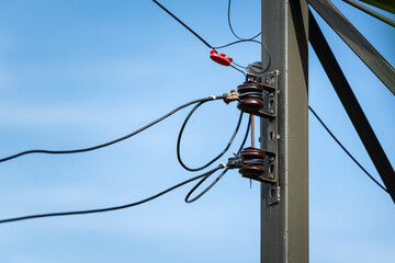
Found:
<svg viewBox="0 0 395 263"><path fill-rule="evenodd" d="M140 132L151 127L153 125L163 121L165 118L169 117L170 115L177 113L178 111L189 106L189 105L192 105L194 103L199 103L199 102L207 102L207 101L215 101L215 100L223 100L225 99L226 96L224 95L219 95L219 96L208 96L208 98L203 98L203 99L199 99L199 100L194 100L194 101L191 101L191 102L188 102L179 107L176 107L174 110L172 110L171 112L165 114L163 116L159 117L158 119L147 124L146 126L133 132L132 134L128 134L128 135L125 135L121 138L117 138L117 139L114 139L114 140L111 140L109 142L105 142L105 144L101 144L101 145L98 145L98 146L92 146L92 147L88 147L88 148L82 148L82 149L76 149L76 150L27 150L27 151L22 151L22 152L19 152L16 155L13 155L13 156L10 156L10 157L5 157L5 158L2 158L0 159L0 162L4 162L4 161L9 161L11 159L14 159L14 158L18 158L18 157L21 157L21 156L25 156L25 155L30 155L30 153L49 153L49 155L65 155L65 153L78 153L78 152L86 152L86 151L92 151L92 150L97 150L97 149L100 149L100 148L103 148L103 147L108 147L108 146L111 146L111 145L114 145L116 142L120 142L122 140L125 140L127 138L131 138L132 136L134 135L137 135L139 134Z"/></svg>

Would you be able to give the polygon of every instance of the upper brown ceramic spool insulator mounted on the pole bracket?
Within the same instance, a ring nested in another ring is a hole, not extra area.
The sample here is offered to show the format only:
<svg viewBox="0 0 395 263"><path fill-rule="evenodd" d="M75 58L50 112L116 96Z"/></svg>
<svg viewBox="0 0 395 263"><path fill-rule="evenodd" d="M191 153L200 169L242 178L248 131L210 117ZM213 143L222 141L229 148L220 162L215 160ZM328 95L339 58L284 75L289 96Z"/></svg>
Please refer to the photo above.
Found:
<svg viewBox="0 0 395 263"><path fill-rule="evenodd" d="M237 87L240 102L237 107L245 112L259 115L263 108L263 85L255 81L246 81Z"/></svg>

